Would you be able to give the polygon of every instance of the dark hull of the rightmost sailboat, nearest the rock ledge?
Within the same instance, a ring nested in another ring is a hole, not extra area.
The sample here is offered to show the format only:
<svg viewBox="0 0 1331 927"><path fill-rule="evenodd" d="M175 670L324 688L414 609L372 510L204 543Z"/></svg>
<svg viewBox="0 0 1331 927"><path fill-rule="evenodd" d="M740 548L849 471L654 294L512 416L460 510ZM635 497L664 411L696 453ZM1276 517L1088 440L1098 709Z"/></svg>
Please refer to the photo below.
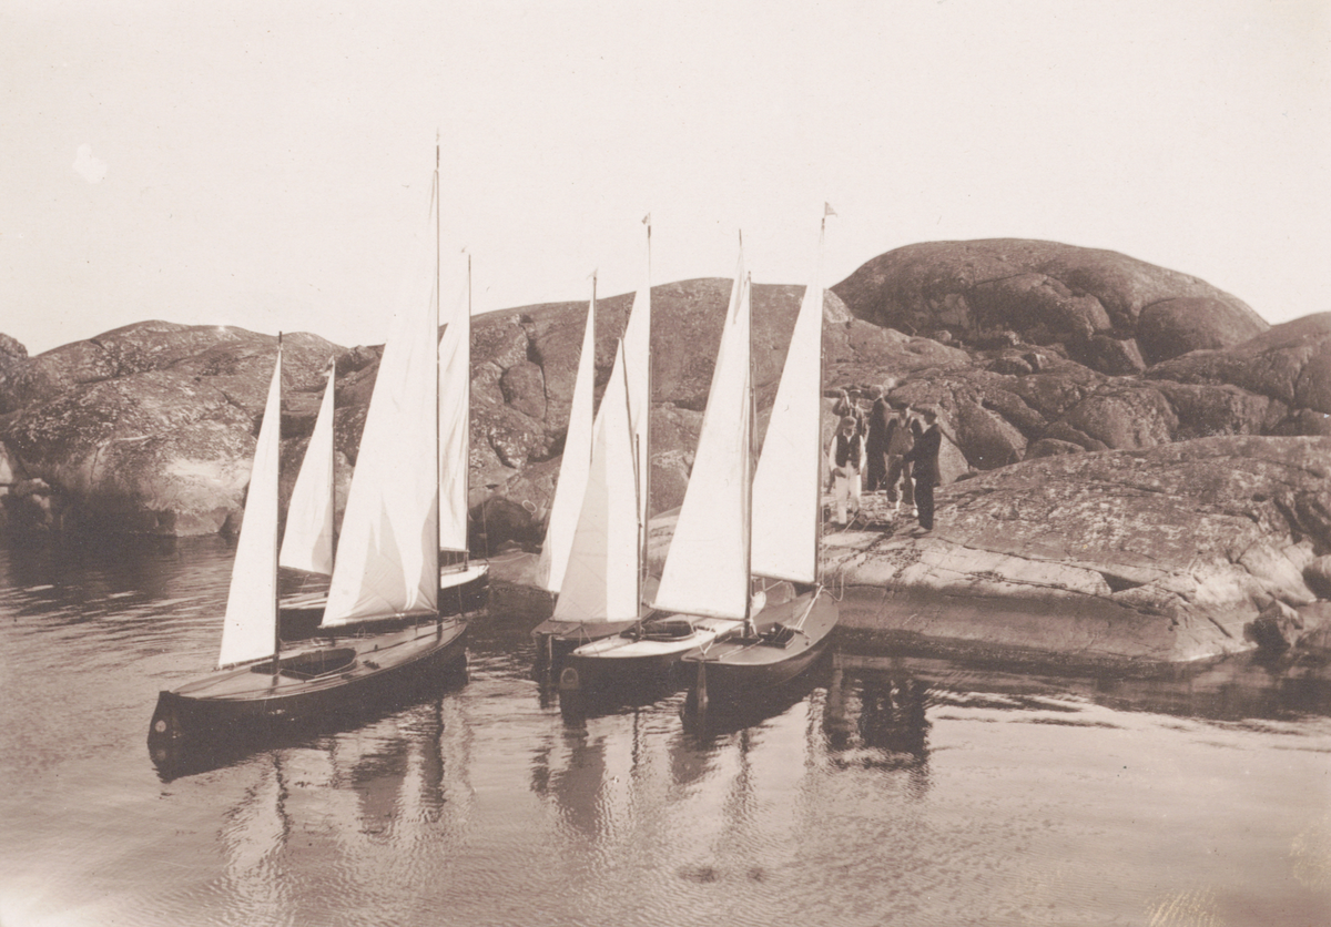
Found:
<svg viewBox="0 0 1331 927"><path fill-rule="evenodd" d="M755 617L757 637L731 636L680 657L695 670L693 685L707 697L739 700L784 685L807 670L827 649L839 618L836 600L825 589L771 605ZM780 642L777 628L799 630ZM685 670L687 672L687 670Z"/></svg>

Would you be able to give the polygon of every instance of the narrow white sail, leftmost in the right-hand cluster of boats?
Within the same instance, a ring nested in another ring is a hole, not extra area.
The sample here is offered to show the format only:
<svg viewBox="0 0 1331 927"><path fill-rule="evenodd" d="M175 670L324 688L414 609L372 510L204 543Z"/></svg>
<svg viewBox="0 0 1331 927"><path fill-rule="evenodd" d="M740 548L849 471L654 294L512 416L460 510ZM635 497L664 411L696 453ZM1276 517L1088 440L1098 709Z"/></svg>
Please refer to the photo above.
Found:
<svg viewBox="0 0 1331 927"><path fill-rule="evenodd" d="M587 305L587 327L583 330L582 355L578 358L578 376L574 380L574 404L568 410L568 434L564 438L564 456L559 463L559 481L555 499L550 504L546 543L540 548L540 576L550 592L559 592L568 565L568 548L578 529L582 497L587 489L591 469L592 391L596 372L596 297L592 291Z"/></svg>

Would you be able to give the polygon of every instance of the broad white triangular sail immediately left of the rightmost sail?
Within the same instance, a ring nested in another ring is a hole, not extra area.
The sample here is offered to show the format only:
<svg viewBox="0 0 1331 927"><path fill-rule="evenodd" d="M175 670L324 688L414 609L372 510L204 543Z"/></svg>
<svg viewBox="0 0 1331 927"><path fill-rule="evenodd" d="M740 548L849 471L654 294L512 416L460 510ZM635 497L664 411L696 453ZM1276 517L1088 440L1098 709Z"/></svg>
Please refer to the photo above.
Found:
<svg viewBox="0 0 1331 927"><path fill-rule="evenodd" d="M749 291L741 250L658 609L748 617L751 416Z"/></svg>

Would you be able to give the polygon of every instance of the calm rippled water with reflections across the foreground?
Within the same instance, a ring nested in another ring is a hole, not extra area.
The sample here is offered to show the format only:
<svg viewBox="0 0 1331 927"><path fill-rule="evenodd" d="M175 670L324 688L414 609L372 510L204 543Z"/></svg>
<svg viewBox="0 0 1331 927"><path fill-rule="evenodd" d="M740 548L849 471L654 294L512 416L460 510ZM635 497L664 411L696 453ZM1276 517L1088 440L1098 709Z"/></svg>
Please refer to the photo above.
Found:
<svg viewBox="0 0 1331 927"><path fill-rule="evenodd" d="M1331 923L1331 698L1244 661L839 653L699 729L683 693L562 712L495 614L465 684L160 771L230 557L0 548L4 927Z"/></svg>

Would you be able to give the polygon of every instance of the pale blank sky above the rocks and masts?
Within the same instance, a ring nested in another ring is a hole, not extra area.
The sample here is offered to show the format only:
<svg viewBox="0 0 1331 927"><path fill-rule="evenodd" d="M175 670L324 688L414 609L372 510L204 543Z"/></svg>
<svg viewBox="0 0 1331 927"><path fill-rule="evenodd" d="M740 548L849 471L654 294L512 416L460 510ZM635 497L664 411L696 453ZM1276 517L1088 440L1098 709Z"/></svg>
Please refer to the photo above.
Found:
<svg viewBox="0 0 1331 927"><path fill-rule="evenodd" d="M1331 310L1326 0L0 0L0 331L382 342L442 136L475 311L1044 238ZM446 285L447 287L447 285Z"/></svg>

